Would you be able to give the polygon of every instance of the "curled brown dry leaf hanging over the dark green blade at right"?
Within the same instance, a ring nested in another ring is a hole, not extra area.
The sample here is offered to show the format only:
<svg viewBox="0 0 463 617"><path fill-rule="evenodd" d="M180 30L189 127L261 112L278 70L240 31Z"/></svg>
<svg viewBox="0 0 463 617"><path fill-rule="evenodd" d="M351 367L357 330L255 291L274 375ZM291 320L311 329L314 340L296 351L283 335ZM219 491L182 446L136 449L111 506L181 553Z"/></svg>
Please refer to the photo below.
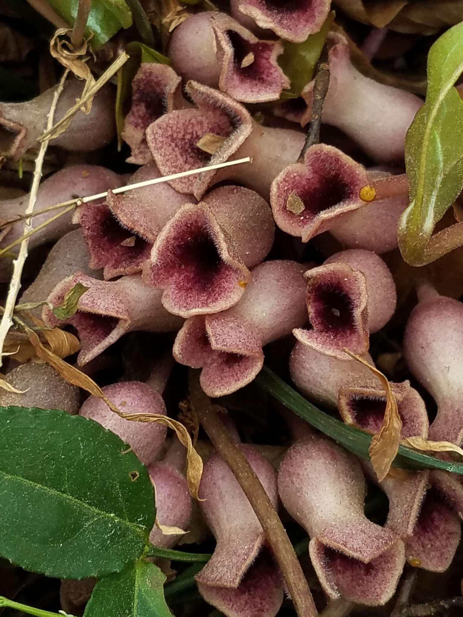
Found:
<svg viewBox="0 0 463 617"><path fill-rule="evenodd" d="M392 462L397 455L400 444L400 433L402 430L402 420L399 416L397 401L394 397L391 385L388 379L375 366L369 364L364 358L359 355L352 354L344 347L344 352L352 358L361 362L373 375L381 381L386 392L386 410L384 413L383 423L380 432L373 435L372 442L369 448L370 461L373 469L377 474L378 480L385 479L391 469Z"/></svg>

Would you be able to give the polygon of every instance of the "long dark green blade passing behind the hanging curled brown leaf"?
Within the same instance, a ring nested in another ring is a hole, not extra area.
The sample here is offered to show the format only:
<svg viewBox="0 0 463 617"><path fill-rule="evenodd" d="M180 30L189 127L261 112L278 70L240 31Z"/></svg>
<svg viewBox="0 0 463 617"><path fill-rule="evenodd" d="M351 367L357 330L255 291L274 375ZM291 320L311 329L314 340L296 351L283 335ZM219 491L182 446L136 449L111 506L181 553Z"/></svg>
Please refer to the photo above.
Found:
<svg viewBox="0 0 463 617"><path fill-rule="evenodd" d="M349 450L349 452L358 457L370 458L368 449L372 441L371 435L363 433L353 426L348 426L322 412L266 366L257 375L256 382L266 392L269 392L275 399L285 405L285 407L296 413L302 420L305 420L323 434L334 439L346 450ZM393 466L412 470L441 469L463 475L463 463L449 463L430 457L427 454L415 452L415 450L411 450L403 445L399 446L399 453L394 458Z"/></svg>

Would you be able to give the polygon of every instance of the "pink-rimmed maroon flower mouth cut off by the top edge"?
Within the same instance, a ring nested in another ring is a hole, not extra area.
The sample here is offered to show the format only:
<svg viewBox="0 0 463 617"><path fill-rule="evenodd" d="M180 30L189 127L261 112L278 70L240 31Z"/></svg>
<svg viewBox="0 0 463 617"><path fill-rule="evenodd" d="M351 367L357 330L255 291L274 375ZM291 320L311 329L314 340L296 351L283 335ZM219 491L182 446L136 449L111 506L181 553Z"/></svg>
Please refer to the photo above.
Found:
<svg viewBox="0 0 463 617"><path fill-rule="evenodd" d="M292 43L302 43L318 32L330 10L328 0L231 0L230 6L235 19L250 17L259 28Z"/></svg>

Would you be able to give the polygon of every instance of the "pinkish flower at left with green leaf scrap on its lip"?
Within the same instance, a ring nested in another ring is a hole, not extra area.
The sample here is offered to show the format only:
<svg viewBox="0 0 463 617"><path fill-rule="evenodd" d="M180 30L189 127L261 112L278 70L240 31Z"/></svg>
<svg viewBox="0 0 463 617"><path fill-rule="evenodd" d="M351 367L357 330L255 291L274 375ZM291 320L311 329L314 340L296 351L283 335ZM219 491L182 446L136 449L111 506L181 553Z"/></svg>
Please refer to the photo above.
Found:
<svg viewBox="0 0 463 617"><path fill-rule="evenodd" d="M58 283L48 301L53 306L60 305L76 283L89 288L80 297L77 312L59 320L44 307L43 319L48 326L70 324L77 329L81 341L79 366L93 360L127 332L175 332L181 326L182 320L162 307L161 292L147 287L138 275L98 281L76 273Z"/></svg>

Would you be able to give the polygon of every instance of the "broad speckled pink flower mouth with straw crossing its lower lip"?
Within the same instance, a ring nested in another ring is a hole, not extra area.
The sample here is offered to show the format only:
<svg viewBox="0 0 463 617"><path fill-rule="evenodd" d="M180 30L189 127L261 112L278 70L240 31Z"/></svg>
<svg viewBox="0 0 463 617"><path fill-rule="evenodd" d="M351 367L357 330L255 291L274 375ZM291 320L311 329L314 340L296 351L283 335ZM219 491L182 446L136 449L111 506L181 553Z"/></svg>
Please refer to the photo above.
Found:
<svg viewBox="0 0 463 617"><path fill-rule="evenodd" d="M222 163L238 151L251 134L251 117L244 107L219 91L189 81L186 91L197 109L180 109L164 114L148 126L146 141L154 162L162 175L184 172ZM206 133L225 138L223 146L214 155L198 147ZM216 174L216 170L201 176L190 176L170 181L179 193L193 193L200 199Z"/></svg>

